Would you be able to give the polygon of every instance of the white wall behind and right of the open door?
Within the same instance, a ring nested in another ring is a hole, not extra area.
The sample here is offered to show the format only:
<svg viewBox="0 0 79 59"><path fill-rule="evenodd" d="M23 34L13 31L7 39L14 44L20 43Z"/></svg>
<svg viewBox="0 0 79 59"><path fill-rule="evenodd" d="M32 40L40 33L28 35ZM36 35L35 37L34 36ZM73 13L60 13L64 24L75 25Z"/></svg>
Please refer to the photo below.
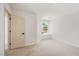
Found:
<svg viewBox="0 0 79 59"><path fill-rule="evenodd" d="M25 19L25 40L26 46L35 44L37 41L37 21L36 15L32 12L22 12L13 10L13 15L23 16Z"/></svg>

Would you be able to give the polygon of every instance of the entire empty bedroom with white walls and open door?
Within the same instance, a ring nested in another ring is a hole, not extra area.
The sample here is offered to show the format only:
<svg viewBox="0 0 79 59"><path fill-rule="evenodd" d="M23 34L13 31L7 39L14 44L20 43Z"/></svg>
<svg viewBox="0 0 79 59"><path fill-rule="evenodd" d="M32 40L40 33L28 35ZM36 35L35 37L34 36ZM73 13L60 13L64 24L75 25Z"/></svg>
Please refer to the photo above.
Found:
<svg viewBox="0 0 79 59"><path fill-rule="evenodd" d="M79 3L3 3L0 15L0 55L79 56Z"/></svg>

